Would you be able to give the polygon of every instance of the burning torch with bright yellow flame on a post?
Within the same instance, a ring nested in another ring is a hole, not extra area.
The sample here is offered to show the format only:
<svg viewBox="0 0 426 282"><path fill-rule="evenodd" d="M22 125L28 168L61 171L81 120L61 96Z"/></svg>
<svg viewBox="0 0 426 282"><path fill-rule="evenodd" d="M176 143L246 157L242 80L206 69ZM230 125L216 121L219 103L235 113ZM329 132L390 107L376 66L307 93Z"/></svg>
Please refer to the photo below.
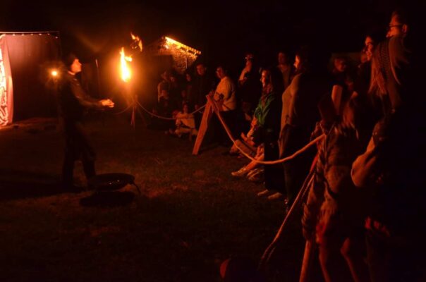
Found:
<svg viewBox="0 0 426 282"><path fill-rule="evenodd" d="M140 109L138 108L139 102L138 102L138 95L133 94L130 90L130 79L132 78L132 71L130 70L130 62L132 61L132 56L136 53L142 52L142 40L138 35L133 35L133 33L130 33L132 37L132 43L130 44L130 48L133 49L132 54L130 56L126 56L126 53L124 51L124 47L121 47L120 51L120 71L121 71L121 80L125 83L125 91L128 96L131 97L131 107L132 107L132 118L130 121L130 124L133 125L133 128L135 128L135 120L136 120L136 111L139 112L139 114L142 116L142 113L140 112Z"/></svg>

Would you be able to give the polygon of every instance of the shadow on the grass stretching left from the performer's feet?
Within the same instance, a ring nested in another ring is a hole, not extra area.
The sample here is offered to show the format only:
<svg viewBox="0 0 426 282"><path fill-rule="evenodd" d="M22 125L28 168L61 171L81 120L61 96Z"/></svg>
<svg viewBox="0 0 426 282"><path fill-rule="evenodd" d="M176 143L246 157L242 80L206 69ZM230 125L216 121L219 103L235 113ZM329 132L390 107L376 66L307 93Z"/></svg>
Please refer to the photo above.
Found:
<svg viewBox="0 0 426 282"><path fill-rule="evenodd" d="M0 171L0 201L45 197L65 192L59 176L27 171Z"/></svg>

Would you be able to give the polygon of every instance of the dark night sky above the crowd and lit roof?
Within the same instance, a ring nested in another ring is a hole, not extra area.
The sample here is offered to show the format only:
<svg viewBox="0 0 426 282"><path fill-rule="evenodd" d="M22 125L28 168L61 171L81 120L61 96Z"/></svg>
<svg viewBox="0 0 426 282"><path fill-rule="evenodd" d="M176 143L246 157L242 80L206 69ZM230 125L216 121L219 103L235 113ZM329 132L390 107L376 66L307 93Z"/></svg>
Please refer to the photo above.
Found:
<svg viewBox="0 0 426 282"><path fill-rule="evenodd" d="M370 27L387 25L396 2L6 0L0 30L59 30L63 49L81 56L126 45L133 30L145 44L170 35L221 61L248 49L275 58L280 47L315 41L331 51L358 51Z"/></svg>

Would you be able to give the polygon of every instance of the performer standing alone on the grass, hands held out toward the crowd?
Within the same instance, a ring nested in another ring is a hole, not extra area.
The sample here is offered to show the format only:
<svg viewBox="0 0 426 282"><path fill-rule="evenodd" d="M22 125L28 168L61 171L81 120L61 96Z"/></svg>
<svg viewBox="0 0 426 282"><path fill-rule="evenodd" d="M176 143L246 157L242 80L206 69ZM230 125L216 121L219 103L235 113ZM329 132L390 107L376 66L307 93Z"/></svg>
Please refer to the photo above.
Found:
<svg viewBox="0 0 426 282"><path fill-rule="evenodd" d="M72 189L74 162L83 161L83 169L87 179L95 176L95 151L83 129L83 116L86 109L104 109L114 107L110 99L93 99L89 97L75 78L81 71L81 63L74 54L63 60L67 71L59 89L59 112L63 120L66 137L65 159L62 168L62 182L66 189Z"/></svg>

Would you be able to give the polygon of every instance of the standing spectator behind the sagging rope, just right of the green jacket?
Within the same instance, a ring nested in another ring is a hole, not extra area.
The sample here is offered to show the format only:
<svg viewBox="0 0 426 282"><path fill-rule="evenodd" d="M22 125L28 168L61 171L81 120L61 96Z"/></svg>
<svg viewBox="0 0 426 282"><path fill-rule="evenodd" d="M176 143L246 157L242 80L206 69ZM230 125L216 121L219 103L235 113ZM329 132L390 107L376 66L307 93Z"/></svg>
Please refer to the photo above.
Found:
<svg viewBox="0 0 426 282"><path fill-rule="evenodd" d="M331 92L327 76L327 56L319 50L303 47L296 54L296 75L283 94L280 158L288 157L310 141L319 121L318 104ZM308 175L315 152L312 150L284 163L287 202L291 204Z"/></svg>

